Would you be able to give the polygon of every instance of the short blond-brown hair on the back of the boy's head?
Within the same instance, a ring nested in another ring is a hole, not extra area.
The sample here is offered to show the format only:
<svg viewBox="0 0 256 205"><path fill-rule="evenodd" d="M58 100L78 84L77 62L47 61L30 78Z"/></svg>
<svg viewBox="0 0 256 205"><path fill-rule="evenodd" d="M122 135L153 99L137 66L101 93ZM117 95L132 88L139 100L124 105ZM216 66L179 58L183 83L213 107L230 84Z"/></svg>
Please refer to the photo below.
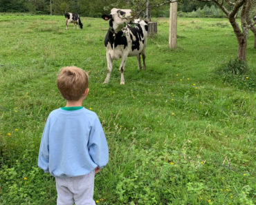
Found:
<svg viewBox="0 0 256 205"><path fill-rule="evenodd" d="M75 66L61 68L57 75L57 88L66 100L81 99L88 88L88 84L88 74Z"/></svg>

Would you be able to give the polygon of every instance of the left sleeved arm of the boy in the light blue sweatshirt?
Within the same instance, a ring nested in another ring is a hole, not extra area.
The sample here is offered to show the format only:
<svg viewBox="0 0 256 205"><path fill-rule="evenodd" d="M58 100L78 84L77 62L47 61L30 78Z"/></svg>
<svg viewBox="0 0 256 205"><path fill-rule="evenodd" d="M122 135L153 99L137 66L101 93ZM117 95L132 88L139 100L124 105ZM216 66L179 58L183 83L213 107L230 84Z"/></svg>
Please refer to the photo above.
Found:
<svg viewBox="0 0 256 205"><path fill-rule="evenodd" d="M44 172L49 172L49 130L50 119L48 117L46 126L44 127L44 133L42 135L41 144L38 155L38 166L42 168Z"/></svg>

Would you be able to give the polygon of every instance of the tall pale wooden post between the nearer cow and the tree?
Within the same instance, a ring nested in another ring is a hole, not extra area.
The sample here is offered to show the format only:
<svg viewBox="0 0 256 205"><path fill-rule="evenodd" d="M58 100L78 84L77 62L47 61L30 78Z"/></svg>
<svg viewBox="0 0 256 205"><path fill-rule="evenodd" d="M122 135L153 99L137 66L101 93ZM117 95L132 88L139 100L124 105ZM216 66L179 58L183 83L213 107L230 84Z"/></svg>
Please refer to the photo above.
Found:
<svg viewBox="0 0 256 205"><path fill-rule="evenodd" d="M169 47L176 48L178 3L170 3Z"/></svg>

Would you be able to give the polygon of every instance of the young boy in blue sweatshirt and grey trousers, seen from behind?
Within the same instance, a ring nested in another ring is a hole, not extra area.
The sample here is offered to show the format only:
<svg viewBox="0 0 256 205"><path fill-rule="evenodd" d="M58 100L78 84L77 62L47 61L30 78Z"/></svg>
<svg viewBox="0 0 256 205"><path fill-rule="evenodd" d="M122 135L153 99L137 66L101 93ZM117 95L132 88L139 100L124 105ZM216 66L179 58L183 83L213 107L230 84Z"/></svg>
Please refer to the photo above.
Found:
<svg viewBox="0 0 256 205"><path fill-rule="evenodd" d="M107 164L109 150L98 116L82 107L88 75L75 66L64 67L57 88L66 107L48 116L38 166L55 177L57 205L95 205L94 176Z"/></svg>

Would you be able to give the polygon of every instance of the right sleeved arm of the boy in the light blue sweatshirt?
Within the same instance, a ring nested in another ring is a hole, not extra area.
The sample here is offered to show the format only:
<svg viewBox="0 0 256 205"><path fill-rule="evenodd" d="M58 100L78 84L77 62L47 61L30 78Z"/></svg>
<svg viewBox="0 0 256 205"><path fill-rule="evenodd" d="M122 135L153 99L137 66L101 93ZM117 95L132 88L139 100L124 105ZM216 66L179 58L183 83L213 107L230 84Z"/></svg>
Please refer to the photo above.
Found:
<svg viewBox="0 0 256 205"><path fill-rule="evenodd" d="M109 148L98 117L95 118L94 124L91 128L88 148L91 159L93 159L93 162L98 165L98 168L106 166L109 161Z"/></svg>

